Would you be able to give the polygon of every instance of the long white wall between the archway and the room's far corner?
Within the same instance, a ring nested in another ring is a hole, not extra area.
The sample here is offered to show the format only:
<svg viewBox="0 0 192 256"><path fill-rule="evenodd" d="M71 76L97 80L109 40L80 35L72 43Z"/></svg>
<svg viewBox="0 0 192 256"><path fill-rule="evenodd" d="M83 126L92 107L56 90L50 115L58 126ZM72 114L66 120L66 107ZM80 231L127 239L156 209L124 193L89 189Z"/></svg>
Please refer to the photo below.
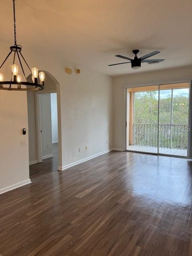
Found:
<svg viewBox="0 0 192 256"><path fill-rule="evenodd" d="M80 74L65 75L61 86L64 168L112 148L111 82L109 76L83 68Z"/></svg>

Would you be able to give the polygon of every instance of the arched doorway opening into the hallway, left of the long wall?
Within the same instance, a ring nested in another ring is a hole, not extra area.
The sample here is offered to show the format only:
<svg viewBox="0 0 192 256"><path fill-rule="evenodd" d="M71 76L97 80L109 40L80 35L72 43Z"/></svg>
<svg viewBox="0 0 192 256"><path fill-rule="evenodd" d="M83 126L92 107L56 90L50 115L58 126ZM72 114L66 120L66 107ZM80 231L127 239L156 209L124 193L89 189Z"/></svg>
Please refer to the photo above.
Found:
<svg viewBox="0 0 192 256"><path fill-rule="evenodd" d="M60 85L48 72L45 84L43 91L27 92L29 165L52 162L57 170L62 158Z"/></svg>

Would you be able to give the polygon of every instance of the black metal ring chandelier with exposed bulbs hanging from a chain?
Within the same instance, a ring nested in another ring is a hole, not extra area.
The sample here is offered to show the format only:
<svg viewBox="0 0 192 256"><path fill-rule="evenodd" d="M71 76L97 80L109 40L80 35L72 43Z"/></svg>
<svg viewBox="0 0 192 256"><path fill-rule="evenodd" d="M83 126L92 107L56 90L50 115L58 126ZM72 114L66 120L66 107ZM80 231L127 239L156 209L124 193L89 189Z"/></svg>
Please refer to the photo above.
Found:
<svg viewBox="0 0 192 256"><path fill-rule="evenodd" d="M37 68L30 69L30 67L28 66L26 60L24 59L24 57L21 53L22 46L17 44L16 20L15 20L15 1L16 0L13 0L14 46L10 46L10 52L9 52L8 56L5 58L2 65L0 66L0 69L1 69L2 66L4 65L4 63L6 62L6 60L9 58L9 56L13 53L14 57L13 57L13 64L11 66L11 68L12 68L11 79L9 81L4 81L4 75L2 73L0 73L0 90L15 90L15 91L18 91L18 90L19 91L43 90L44 89L44 78L45 78L44 72L39 72L40 83L38 83L38 69ZM18 58L21 70L24 75L24 79L25 79L24 82L22 82L22 76L18 75L19 66L15 64L16 57ZM30 72L32 74L33 82L27 81L21 60L23 60L25 62L26 66L30 70ZM6 86L6 85L9 85L9 86ZM14 87L12 87L12 85L14 85Z"/></svg>

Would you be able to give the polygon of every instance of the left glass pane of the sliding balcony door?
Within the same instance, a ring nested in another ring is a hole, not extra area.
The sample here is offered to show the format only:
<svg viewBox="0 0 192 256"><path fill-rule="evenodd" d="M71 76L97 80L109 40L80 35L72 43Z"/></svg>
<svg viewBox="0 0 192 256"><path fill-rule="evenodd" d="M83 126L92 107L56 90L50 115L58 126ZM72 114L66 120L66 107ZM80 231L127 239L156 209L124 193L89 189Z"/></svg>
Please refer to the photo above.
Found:
<svg viewBox="0 0 192 256"><path fill-rule="evenodd" d="M134 92L133 141L128 150L158 153L158 86Z"/></svg>

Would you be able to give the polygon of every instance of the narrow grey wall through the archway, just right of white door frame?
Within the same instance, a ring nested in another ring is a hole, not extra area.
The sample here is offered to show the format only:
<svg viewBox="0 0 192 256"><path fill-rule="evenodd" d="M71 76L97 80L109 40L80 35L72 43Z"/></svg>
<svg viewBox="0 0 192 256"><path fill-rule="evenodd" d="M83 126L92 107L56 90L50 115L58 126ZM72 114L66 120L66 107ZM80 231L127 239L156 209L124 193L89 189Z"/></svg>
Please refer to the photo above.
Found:
<svg viewBox="0 0 192 256"><path fill-rule="evenodd" d="M41 130L42 130L42 156L43 159L52 156L52 132L51 132L51 96L40 95Z"/></svg>

